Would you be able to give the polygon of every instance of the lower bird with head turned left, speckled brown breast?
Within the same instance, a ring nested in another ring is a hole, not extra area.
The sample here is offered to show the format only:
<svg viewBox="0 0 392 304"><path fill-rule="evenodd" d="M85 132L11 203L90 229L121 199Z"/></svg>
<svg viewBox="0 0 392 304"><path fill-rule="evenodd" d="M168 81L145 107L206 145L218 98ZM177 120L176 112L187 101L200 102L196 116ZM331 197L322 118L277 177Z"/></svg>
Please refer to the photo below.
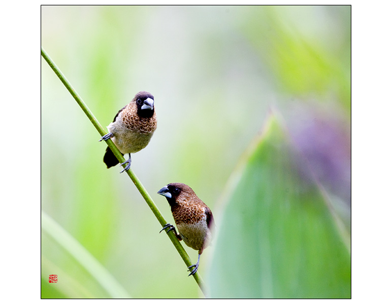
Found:
<svg viewBox="0 0 392 304"><path fill-rule="evenodd" d="M187 246L199 251L198 262L188 267L188 276L194 275L199 269L201 254L212 239L215 224L211 209L191 187L183 183L170 183L162 187L158 194L168 200L179 233L170 223L164 225L160 232L169 228L167 233L173 230L179 241L184 240Z"/></svg>

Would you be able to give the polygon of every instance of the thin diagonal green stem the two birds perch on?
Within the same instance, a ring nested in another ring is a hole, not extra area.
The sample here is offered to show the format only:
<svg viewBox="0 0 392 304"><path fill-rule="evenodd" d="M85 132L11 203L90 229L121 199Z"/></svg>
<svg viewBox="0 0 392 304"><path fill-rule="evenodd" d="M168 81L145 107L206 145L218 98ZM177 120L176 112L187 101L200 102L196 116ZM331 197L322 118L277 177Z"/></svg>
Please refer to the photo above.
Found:
<svg viewBox="0 0 392 304"><path fill-rule="evenodd" d="M106 132L102 128L101 124L99 121L94 117L90 109L87 107L83 99L79 96L79 94L76 92L76 90L72 87L70 82L67 80L67 78L64 76L64 74L60 71L60 69L56 66L56 64L53 62L53 60L49 57L49 55L45 52L45 50L41 47L41 55L42 57L46 60L46 62L49 64L49 66L52 68L52 70L55 72L57 77L60 79L60 81L63 83L63 85L67 88L67 90L71 93L72 97L76 100L76 102L79 104L79 106L82 108L88 119L91 121L95 129L100 133L101 136L105 135ZM106 143L110 147L110 149L113 151L114 155L116 158L119 160L120 163L123 163L125 159L123 158L122 154L118 150L118 148L115 146L113 141L111 139L106 140ZM125 167L125 164L123 165ZM143 184L140 182L139 178L135 175L135 173L132 171L132 169L129 169L126 171L130 179L133 181L137 189L139 190L140 194L146 201L147 205L150 207L151 211L154 213L155 217L158 219L159 223L164 226L168 222L165 220L165 218L162 216L160 213L158 207L155 205L154 201L151 199L150 195L146 191L146 188L143 186ZM191 262L188 254L186 253L184 247L181 245L181 243L178 241L176 238L175 234L173 231L169 232L168 237L172 241L174 247L177 249L178 253L180 254L181 258L184 260L185 264L187 267L192 265L193 263ZM199 275L199 272L196 272L193 275L193 278L195 281L198 283L200 289L204 293L204 283L202 278Z"/></svg>

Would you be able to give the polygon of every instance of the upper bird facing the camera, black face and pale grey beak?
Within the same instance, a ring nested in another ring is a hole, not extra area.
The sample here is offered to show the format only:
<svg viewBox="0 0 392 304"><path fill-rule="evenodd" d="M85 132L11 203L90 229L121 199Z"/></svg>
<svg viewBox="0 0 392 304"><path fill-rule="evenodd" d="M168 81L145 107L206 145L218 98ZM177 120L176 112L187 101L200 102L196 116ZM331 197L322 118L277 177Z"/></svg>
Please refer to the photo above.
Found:
<svg viewBox="0 0 392 304"><path fill-rule="evenodd" d="M99 141L112 138L122 155L129 154L128 160L121 164L126 166L120 173L130 168L130 154L147 146L156 125L154 96L148 92L137 93L129 104L117 112L113 122L107 127L109 133L102 136ZM108 168L119 163L109 146L106 148L104 163Z"/></svg>

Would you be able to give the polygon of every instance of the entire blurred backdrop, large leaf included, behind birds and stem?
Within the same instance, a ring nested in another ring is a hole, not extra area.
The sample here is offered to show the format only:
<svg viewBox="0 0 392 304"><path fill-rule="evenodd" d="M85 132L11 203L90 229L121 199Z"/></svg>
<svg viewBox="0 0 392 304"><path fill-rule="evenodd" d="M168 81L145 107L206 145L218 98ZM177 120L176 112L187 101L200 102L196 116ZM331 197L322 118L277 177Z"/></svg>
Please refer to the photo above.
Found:
<svg viewBox="0 0 392 304"><path fill-rule="evenodd" d="M132 169L169 222L156 192L170 182L212 209L199 268L210 296L351 296L349 6L41 8L42 47L103 126L138 91L154 95L158 128ZM43 59L41 71L41 296L114 296L68 244L108 271L117 296L202 297ZM80 244L56 239L57 225Z"/></svg>

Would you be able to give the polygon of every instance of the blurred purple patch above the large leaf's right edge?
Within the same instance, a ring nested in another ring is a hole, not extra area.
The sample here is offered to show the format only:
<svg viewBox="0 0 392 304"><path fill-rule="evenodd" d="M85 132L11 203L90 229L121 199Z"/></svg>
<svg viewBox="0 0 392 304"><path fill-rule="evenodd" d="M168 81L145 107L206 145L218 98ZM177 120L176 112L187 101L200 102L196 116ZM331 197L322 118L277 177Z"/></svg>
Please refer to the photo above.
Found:
<svg viewBox="0 0 392 304"><path fill-rule="evenodd" d="M301 174L315 177L330 195L351 206L350 125L331 110L295 112L288 130L308 163L300 165Z"/></svg>

